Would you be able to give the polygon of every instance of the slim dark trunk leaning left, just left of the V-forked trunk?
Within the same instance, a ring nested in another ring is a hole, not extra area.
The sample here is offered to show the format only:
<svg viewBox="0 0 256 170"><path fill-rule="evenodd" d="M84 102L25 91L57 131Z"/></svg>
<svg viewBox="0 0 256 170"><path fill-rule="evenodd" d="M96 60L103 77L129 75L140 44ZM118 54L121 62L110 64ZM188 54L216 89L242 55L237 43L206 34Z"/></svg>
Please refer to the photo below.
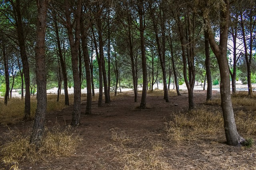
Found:
<svg viewBox="0 0 256 170"><path fill-rule="evenodd" d="M58 29L58 23L57 23L57 17L56 13L53 14L53 21L54 21L54 31L56 34L56 40L57 40L57 46L58 46L58 55L60 57L60 65L62 70L62 76L63 76L63 87L64 87L64 95L65 95L65 105L69 105L69 97L68 97L68 77L67 77L67 71L66 71L66 63L62 55L61 45L60 45L60 35L59 35L59 29Z"/></svg>

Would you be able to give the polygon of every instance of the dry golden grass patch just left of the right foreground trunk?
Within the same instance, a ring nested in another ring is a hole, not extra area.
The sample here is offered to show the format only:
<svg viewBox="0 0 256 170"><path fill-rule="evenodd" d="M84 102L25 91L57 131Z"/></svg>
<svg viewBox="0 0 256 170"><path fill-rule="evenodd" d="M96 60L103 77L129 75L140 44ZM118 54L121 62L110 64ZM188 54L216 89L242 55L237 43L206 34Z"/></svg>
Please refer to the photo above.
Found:
<svg viewBox="0 0 256 170"><path fill-rule="evenodd" d="M219 110L206 107L185 113L172 113L171 121L166 122L167 137L181 142L210 138L222 130L223 118Z"/></svg>

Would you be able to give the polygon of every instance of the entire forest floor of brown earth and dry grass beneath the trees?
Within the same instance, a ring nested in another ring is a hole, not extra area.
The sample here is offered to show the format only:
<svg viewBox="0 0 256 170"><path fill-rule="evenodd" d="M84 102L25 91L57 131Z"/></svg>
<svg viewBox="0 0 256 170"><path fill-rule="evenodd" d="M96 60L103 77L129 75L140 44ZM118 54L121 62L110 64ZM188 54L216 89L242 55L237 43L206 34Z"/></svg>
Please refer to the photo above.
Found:
<svg viewBox="0 0 256 170"><path fill-rule="evenodd" d="M133 92L112 95L112 102L103 107L97 106L95 96L93 114L82 114L79 127L68 126L72 106L49 106L47 129L38 150L28 143L30 129L19 126L19 119L15 126L9 124L10 130L2 121L0 170L256 169L255 96L232 96L238 132L249 145L232 147L225 143L218 93L206 103L206 92L195 92L196 109L190 112L186 111L185 90L182 96L175 96L173 90L169 94L170 103L165 103L162 90L148 91L144 110L133 102ZM56 104L55 100L48 96L48 102ZM82 95L82 110L85 103L86 95Z"/></svg>

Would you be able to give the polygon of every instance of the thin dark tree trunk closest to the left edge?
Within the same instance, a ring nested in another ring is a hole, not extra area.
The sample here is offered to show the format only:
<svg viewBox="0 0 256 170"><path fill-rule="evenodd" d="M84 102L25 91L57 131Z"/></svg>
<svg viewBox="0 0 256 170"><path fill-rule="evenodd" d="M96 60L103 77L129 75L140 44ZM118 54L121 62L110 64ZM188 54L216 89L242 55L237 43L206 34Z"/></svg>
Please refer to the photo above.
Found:
<svg viewBox="0 0 256 170"><path fill-rule="evenodd" d="M2 42L2 51L3 51L3 60L4 60L4 76L5 76L4 104L7 105L8 98L9 98L10 79L9 79L9 72L8 72L8 57L6 56L6 52L5 52L5 42Z"/></svg>

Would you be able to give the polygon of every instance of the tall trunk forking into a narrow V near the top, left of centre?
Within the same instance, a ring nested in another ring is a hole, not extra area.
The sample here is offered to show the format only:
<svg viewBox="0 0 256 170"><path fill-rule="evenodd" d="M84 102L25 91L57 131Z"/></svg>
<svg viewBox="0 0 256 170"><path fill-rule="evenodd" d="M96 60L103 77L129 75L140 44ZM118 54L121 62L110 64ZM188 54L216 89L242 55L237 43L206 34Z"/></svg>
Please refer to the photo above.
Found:
<svg viewBox="0 0 256 170"><path fill-rule="evenodd" d="M81 114L81 88L80 78L78 70L78 45L80 39L80 13L81 13L81 0L78 0L76 8L76 28L75 28L75 39L73 35L72 23L70 19L70 4L68 0L64 1L65 15L66 15L66 26L68 30L68 39L70 43L71 59L72 59L72 71L74 80L74 106L72 111L72 122L71 125L79 125L80 114Z"/></svg>

